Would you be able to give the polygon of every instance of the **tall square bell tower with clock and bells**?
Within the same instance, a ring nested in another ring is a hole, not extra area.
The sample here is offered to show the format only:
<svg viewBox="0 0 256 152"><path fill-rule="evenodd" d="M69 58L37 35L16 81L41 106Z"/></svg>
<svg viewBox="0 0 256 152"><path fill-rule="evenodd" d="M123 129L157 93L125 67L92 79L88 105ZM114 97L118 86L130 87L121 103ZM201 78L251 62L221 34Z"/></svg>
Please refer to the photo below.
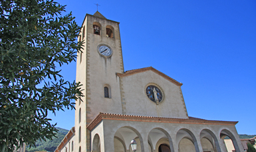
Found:
<svg viewBox="0 0 256 152"><path fill-rule="evenodd" d="M75 151L90 149L90 124L100 112L122 114L120 79L124 73L119 22L108 20L98 11L86 14L79 41L84 40L76 61L76 82L82 83L83 102L76 100ZM121 86L122 87L122 86Z"/></svg>

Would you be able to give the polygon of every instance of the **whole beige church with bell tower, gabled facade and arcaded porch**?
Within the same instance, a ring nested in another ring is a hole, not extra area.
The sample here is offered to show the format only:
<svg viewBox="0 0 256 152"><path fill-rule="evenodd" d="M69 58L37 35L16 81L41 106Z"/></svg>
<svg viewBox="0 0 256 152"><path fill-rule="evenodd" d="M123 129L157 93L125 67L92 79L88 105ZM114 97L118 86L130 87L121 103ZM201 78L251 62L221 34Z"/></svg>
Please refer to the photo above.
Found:
<svg viewBox="0 0 256 152"><path fill-rule="evenodd" d="M226 136L243 151L237 122L188 116L182 83L153 67L124 71L119 22L86 14L79 35L83 102L55 152L227 152Z"/></svg>

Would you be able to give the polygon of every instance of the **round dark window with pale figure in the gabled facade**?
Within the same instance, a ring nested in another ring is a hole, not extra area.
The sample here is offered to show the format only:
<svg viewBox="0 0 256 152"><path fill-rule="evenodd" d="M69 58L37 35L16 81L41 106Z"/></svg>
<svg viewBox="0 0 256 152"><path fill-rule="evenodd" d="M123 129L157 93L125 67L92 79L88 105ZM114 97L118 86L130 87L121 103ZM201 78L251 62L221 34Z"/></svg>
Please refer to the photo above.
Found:
<svg viewBox="0 0 256 152"><path fill-rule="evenodd" d="M155 85L149 85L148 87L146 87L146 95L153 102L161 102L163 100L162 91Z"/></svg>

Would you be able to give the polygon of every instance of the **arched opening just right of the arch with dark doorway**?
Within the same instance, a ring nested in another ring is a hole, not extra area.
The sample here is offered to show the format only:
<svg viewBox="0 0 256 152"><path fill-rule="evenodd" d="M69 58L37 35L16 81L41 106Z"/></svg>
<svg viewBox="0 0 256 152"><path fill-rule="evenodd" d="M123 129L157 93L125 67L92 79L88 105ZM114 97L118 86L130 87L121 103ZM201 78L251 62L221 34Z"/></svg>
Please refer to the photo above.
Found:
<svg viewBox="0 0 256 152"><path fill-rule="evenodd" d="M181 129L176 134L176 143L179 143L179 152L199 152L195 135L188 129Z"/></svg>

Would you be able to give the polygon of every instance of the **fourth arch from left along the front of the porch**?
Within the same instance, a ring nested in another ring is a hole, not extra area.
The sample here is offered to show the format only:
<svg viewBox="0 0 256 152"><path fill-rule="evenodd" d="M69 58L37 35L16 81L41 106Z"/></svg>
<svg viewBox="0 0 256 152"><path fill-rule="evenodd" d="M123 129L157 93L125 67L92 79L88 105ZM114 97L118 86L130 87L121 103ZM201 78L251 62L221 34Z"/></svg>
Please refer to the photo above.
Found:
<svg viewBox="0 0 256 152"><path fill-rule="evenodd" d="M200 137L201 147L203 149L206 149L206 148L204 148L204 144L202 143L201 139L205 138L205 139L209 140L209 142L213 146L214 151L221 152L221 149L219 146L219 141L218 141L216 135L213 132L211 132L211 130L208 130L208 129L201 130L199 137Z"/></svg>

